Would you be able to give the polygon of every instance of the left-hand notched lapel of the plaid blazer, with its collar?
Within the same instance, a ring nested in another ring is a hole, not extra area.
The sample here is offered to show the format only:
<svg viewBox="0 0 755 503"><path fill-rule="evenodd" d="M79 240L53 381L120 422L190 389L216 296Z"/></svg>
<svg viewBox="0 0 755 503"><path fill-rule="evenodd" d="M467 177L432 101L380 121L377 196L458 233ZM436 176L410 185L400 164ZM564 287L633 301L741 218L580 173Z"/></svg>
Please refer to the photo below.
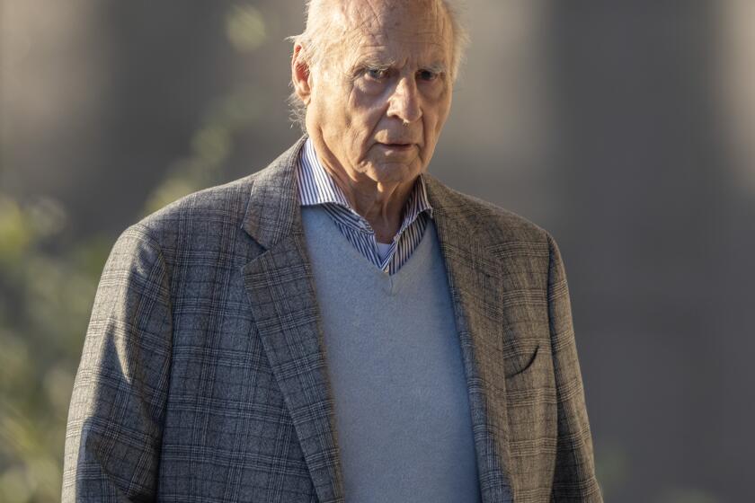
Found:
<svg viewBox="0 0 755 503"><path fill-rule="evenodd" d="M282 154L253 183L244 230L265 251L242 269L254 322L323 502L343 500L312 269L296 186L298 151Z"/></svg>

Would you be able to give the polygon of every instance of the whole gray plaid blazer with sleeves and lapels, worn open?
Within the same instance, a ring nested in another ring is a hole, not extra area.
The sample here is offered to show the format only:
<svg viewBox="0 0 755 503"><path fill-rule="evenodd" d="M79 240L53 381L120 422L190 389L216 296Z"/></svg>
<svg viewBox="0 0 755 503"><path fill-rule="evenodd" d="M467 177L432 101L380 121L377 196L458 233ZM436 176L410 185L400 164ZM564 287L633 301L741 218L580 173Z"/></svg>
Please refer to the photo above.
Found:
<svg viewBox="0 0 755 503"><path fill-rule="evenodd" d="M76 375L64 501L348 500L296 187L304 139L120 235ZM601 501L558 248L426 180L483 501Z"/></svg>

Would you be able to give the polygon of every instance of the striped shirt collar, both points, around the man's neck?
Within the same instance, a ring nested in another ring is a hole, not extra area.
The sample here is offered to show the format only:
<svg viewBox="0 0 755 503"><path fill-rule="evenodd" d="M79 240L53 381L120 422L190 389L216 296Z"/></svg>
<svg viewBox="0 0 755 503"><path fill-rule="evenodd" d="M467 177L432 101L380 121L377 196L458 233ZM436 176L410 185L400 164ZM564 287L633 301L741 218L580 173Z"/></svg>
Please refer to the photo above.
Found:
<svg viewBox="0 0 755 503"><path fill-rule="evenodd" d="M341 188L333 181L333 177L325 171L315 153L312 138L306 138L299 154L297 179L301 206L334 204L351 210L353 216L358 217L359 220L364 220L351 207ZM427 198L427 188L421 173L414 182L412 193L406 201L404 223L401 225L398 234L401 234L408 225L411 225L422 212L426 212L428 216L432 217L432 207ZM366 222L364 223L366 224ZM360 226L363 227L363 225Z"/></svg>

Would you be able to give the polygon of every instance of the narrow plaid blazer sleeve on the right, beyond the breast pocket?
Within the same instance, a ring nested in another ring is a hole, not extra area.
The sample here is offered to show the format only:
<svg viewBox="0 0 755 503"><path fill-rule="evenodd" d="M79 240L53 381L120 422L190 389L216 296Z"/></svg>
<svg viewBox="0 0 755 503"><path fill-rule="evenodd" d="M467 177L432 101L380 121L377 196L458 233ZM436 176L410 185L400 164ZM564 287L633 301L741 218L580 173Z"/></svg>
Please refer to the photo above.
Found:
<svg viewBox="0 0 755 503"><path fill-rule="evenodd" d="M548 246L548 317L558 401L558 438L551 501L602 502L595 477L590 424L574 341L564 262L550 235Z"/></svg>

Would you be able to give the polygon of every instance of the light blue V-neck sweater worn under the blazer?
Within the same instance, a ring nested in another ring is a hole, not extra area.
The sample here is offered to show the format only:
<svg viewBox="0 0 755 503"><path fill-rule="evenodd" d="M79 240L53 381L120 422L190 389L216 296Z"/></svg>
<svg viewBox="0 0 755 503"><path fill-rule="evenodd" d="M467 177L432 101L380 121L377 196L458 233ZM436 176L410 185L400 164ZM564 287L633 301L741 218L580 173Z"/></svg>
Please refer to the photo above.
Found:
<svg viewBox="0 0 755 503"><path fill-rule="evenodd" d="M466 377L429 221L389 276L302 207L347 502L480 500Z"/></svg>

